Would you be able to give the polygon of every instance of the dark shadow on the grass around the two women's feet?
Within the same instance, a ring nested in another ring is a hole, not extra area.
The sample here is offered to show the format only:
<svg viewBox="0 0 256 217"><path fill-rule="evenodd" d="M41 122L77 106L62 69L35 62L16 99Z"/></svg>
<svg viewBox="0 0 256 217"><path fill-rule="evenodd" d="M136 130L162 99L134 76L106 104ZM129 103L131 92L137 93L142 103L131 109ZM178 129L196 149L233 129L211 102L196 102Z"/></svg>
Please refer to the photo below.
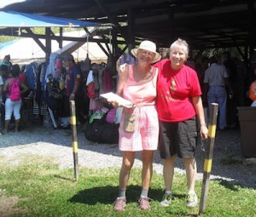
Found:
<svg viewBox="0 0 256 217"><path fill-rule="evenodd" d="M141 186L128 186L126 191L127 203L137 202L140 197L141 190ZM88 205L95 205L96 203L112 204L116 199L117 194L117 186L94 187L79 191L79 193L71 197L68 202L84 203ZM160 201L162 194L163 191L161 189L150 189L148 192L148 197L152 198L153 200Z"/></svg>

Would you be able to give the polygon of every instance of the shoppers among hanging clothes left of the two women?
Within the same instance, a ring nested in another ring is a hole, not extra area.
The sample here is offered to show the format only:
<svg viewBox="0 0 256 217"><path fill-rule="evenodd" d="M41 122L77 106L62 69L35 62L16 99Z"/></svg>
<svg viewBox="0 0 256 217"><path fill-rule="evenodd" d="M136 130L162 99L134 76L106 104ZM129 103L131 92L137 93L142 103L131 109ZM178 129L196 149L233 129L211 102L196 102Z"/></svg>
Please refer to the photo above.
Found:
<svg viewBox="0 0 256 217"><path fill-rule="evenodd" d="M15 132L22 128L20 118L26 104L34 122L44 123L49 117L53 128L69 129L69 101L75 100L76 116L82 125L102 108L100 94L116 86L112 66L91 64L90 60L76 63L72 54L50 54L46 62L34 61L21 67L12 65L8 55L0 65L1 134L8 133L9 123L15 122ZM11 100L16 81L20 97Z"/></svg>

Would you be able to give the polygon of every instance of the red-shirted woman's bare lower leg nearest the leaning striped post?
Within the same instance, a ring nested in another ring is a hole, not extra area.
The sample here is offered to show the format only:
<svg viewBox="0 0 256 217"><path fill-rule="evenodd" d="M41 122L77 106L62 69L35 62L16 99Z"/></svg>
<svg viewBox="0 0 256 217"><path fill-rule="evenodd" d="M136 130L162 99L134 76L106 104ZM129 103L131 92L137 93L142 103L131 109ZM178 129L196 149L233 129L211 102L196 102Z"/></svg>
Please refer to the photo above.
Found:
<svg viewBox="0 0 256 217"><path fill-rule="evenodd" d="M197 173L195 158L184 158L183 161L186 168L189 191L195 191L195 179Z"/></svg>

